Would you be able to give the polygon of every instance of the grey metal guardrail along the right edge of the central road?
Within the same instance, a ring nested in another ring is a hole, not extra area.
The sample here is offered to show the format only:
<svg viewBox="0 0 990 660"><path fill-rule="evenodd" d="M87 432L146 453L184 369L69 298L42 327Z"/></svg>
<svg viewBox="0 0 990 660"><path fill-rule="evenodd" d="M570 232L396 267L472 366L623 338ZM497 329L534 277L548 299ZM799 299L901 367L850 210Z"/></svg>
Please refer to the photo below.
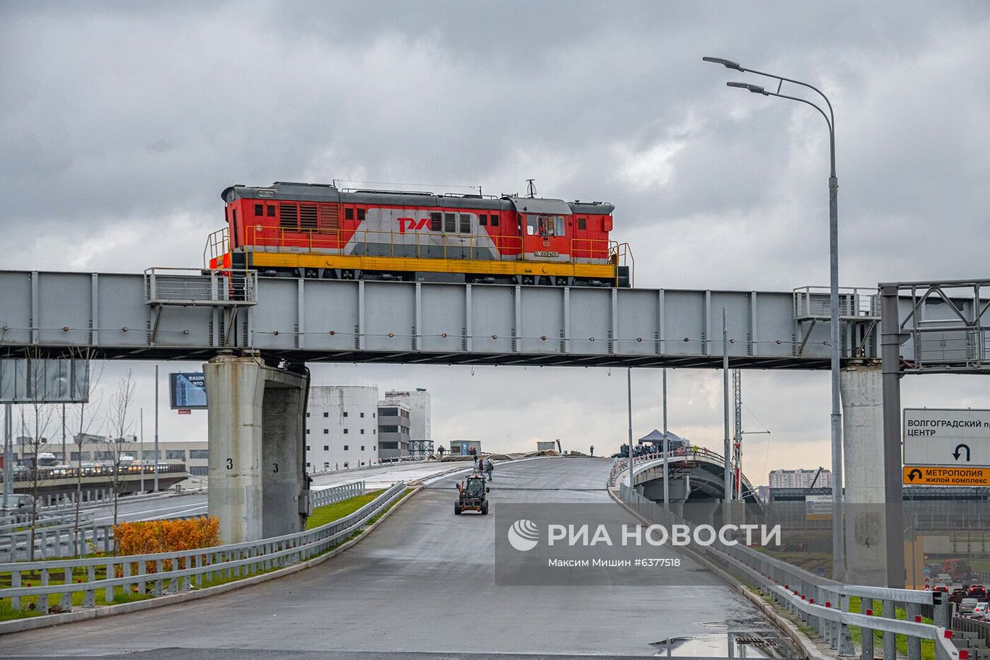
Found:
<svg viewBox="0 0 990 660"><path fill-rule="evenodd" d="M655 502L647 500L625 484L620 488L620 495L646 519L664 525L695 526L691 521L680 519ZM909 660L921 660L923 639L936 642L938 657L958 657L952 655L955 649L951 643L945 645L944 630L948 623L948 604L942 602L936 605L933 592L842 584L757 552L743 544L729 545L718 538L712 545L692 546L692 549L729 571L743 575L747 581L757 585L760 591L773 598L778 605L815 629L842 656L855 654L848 629L848 626L855 625L862 629L861 656L864 660L874 658L874 631L883 633L884 660L896 659L898 634L908 637ZM859 613L849 611L851 598L860 599ZM882 615L873 615L874 611L879 610L874 605L877 601L882 603ZM898 607L906 611L906 619L896 618ZM934 624L922 622L923 607L934 611ZM939 655L940 652L942 655Z"/></svg>

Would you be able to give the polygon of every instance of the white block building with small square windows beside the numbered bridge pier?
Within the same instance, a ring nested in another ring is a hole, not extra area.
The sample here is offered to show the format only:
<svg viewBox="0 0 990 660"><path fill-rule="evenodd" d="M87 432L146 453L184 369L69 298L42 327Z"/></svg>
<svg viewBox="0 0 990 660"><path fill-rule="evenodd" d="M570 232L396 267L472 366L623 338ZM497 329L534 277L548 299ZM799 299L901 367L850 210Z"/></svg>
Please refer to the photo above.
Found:
<svg viewBox="0 0 990 660"><path fill-rule="evenodd" d="M311 387L306 418L307 471L378 462L377 386Z"/></svg>

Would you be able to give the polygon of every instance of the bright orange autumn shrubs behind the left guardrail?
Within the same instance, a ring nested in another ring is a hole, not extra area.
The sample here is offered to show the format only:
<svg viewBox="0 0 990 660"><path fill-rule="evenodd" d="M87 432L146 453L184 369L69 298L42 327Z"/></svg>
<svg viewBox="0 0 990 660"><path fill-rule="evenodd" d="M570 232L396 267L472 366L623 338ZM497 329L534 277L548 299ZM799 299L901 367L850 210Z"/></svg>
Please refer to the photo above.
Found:
<svg viewBox="0 0 990 660"><path fill-rule="evenodd" d="M138 520L114 525L114 540L122 555L153 554L207 548L220 544L220 519L214 516L185 520ZM178 568L184 569L185 560L180 558ZM137 572L138 563L132 565ZM163 571L172 570L172 560L162 561ZM122 568L118 567L118 572ZM146 562L146 572L155 573L155 561Z"/></svg>

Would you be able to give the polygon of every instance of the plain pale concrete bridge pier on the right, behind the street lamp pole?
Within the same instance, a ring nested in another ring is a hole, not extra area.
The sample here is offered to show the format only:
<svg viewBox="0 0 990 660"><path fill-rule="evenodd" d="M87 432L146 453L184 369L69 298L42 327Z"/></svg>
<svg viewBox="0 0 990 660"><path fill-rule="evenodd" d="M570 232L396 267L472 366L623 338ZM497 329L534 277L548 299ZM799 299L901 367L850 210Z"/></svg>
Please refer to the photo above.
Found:
<svg viewBox="0 0 990 660"><path fill-rule="evenodd" d="M842 369L845 582L887 586L883 387L879 367ZM900 539L895 539L900 542Z"/></svg>

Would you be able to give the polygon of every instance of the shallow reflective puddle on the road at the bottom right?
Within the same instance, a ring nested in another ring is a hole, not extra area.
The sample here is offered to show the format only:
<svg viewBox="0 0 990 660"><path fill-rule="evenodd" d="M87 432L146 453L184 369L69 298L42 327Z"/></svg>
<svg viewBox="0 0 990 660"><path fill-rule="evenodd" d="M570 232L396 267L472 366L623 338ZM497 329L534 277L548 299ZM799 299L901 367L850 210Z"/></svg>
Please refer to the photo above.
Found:
<svg viewBox="0 0 990 660"><path fill-rule="evenodd" d="M776 658L804 657L794 643L773 629L739 630L671 637L650 644L653 655L670 658Z"/></svg>

